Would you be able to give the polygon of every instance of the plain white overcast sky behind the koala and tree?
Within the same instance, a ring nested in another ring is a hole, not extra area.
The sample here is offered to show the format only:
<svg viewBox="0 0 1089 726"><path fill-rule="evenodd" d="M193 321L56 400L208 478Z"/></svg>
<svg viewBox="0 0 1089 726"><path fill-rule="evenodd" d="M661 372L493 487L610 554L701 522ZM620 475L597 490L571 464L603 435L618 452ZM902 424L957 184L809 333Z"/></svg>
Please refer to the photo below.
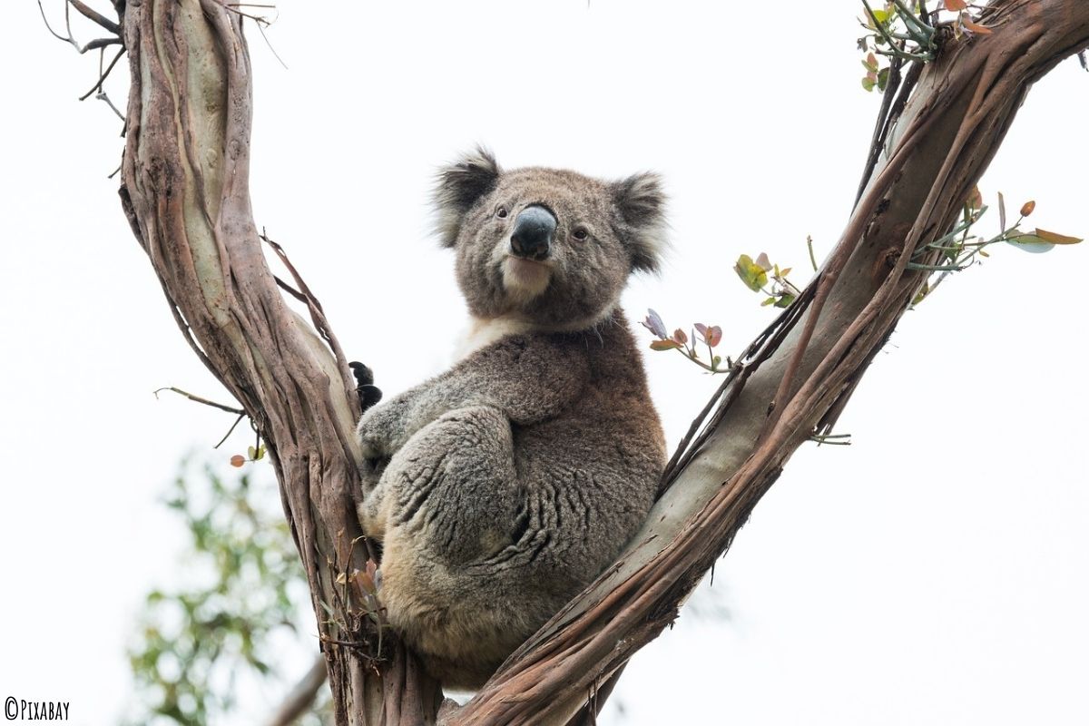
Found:
<svg viewBox="0 0 1089 726"><path fill-rule="evenodd" d="M474 143L509 167L662 172L675 249L624 304L717 322L736 352L772 313L733 260L805 270L807 234L828 251L879 102L859 86L851 2L280 5L269 37L290 70L250 33L257 224L388 393L437 372L461 328L427 190ZM129 693L142 595L176 577L159 497L230 417L151 396L225 397L106 179L118 120L75 102L94 61L53 41L35 3L8 13L0 697L68 700L72 723L105 724ZM986 199L1036 198L1033 223L1089 236L1087 113L1089 74L1067 62L1029 96ZM1087 260L1089 246L995 249L908 313L841 421L854 445L805 446L697 594L731 619L685 611L604 723L620 703L639 725L1089 722ZM672 443L714 382L675 354L648 366ZM240 427L210 455L248 443Z"/></svg>

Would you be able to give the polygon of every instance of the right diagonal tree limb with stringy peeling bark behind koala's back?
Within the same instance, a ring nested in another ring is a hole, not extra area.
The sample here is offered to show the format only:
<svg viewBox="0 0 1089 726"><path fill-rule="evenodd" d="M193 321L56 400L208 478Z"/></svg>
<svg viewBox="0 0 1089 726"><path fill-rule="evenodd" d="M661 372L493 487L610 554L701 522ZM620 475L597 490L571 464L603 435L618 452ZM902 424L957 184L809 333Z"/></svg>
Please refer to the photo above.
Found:
<svg viewBox="0 0 1089 726"><path fill-rule="evenodd" d="M844 235L806 291L813 303L795 302L803 311L784 311L762 352L739 359L745 374L721 392L712 430L697 439L690 464L627 552L449 724L570 718L567 697L585 693L673 620L790 455L849 393L923 280L906 269L911 254L953 223L1031 84L1089 45L1089 4L1078 0L1000 0L983 20L992 35L950 42L923 69Z"/></svg>

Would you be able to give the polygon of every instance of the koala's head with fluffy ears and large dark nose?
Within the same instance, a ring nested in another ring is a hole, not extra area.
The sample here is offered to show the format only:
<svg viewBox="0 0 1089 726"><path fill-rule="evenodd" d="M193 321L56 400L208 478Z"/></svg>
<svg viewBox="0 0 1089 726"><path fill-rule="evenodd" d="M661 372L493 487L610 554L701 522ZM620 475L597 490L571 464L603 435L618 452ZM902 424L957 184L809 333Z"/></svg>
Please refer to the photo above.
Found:
<svg viewBox="0 0 1089 726"><path fill-rule="evenodd" d="M658 269L665 197L656 174L604 182L572 171L503 171L478 149L442 169L442 244L478 318L558 330L605 316L633 271Z"/></svg>

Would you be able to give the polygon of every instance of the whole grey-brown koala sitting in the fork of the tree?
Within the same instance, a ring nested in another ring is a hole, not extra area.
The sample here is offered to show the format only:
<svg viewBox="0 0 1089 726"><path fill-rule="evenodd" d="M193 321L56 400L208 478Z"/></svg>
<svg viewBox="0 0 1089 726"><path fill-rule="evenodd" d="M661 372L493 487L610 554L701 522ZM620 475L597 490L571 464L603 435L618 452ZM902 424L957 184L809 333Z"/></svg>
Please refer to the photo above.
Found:
<svg viewBox="0 0 1089 726"><path fill-rule="evenodd" d="M617 300L658 268L664 196L653 174L503 171L477 149L440 172L436 204L467 345L363 415L359 516L389 623L444 686L475 689L654 499L664 436Z"/></svg>

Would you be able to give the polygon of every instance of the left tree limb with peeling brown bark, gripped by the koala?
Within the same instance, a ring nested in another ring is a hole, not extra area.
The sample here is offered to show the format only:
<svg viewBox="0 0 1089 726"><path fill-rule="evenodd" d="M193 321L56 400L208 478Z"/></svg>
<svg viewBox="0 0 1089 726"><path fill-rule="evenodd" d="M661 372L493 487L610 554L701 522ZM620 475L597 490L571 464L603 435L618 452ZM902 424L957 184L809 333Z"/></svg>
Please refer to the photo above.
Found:
<svg viewBox="0 0 1089 726"><path fill-rule="evenodd" d="M353 546L363 534L358 401L320 305L296 275L321 337L286 306L254 225L242 16L218 0L144 0L127 3L124 33L132 88L122 204L179 327L267 442L309 580L337 721L433 719L437 684L400 645L376 660L366 593L352 577L337 581L366 561L366 547Z"/></svg>

